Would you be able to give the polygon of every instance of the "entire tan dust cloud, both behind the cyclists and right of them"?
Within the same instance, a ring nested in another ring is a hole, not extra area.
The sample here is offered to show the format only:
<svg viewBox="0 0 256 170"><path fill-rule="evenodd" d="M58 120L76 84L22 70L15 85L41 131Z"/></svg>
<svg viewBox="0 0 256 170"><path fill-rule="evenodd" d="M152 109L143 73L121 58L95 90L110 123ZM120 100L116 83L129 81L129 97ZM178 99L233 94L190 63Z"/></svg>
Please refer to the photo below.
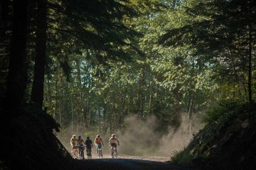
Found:
<svg viewBox="0 0 256 170"><path fill-rule="evenodd" d="M186 114L182 116L182 123L178 130L169 127L165 135L156 132L156 127L159 122L155 116L151 116L146 120L142 120L138 115L129 115L124 120L126 128L124 132L117 130L117 132L110 132L110 134L103 135L100 133L105 147L102 148L103 154L110 154L108 147L108 140L112 133L117 135L120 146L117 147L119 154L143 156L143 157L171 157L174 151L180 151L188 145L193 137L193 133L198 132L203 125L200 121L193 119L193 124L186 118ZM65 128L58 132L57 137L62 142L64 147L71 152L70 138L72 135L81 135L83 139L90 136L94 142L95 136L99 132L86 133L81 128ZM93 148L92 157L96 157L96 149ZM110 156L109 156L110 157Z"/></svg>

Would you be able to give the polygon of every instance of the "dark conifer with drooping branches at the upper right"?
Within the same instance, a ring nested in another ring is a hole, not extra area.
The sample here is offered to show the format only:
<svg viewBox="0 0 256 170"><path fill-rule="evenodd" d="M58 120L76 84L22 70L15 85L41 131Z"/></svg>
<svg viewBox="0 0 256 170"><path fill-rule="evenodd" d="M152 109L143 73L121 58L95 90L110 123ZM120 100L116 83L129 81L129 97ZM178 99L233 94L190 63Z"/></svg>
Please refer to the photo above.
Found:
<svg viewBox="0 0 256 170"><path fill-rule="evenodd" d="M191 23L167 31L159 42L171 47L191 45L198 62L214 66L215 73L225 71L221 74L222 79L242 86L241 79L246 79L249 93L245 89L244 94L251 103L250 62L255 45L255 30L252 29L255 28L255 13L251 11L255 11L255 1L191 1L190 5L186 7L186 13L191 17ZM247 75L241 74L240 70Z"/></svg>

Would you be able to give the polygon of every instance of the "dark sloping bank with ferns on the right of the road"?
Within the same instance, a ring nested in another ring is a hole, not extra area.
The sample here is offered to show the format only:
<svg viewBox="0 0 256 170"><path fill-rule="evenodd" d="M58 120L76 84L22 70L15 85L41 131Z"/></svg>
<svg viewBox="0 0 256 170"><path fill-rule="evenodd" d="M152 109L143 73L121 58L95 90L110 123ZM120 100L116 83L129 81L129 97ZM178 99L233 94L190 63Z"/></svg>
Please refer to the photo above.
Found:
<svg viewBox="0 0 256 170"><path fill-rule="evenodd" d="M171 161L202 169L251 169L256 166L252 163L256 160L252 153L256 149L255 111L255 103L222 101L203 118L205 128L188 147L174 152Z"/></svg>

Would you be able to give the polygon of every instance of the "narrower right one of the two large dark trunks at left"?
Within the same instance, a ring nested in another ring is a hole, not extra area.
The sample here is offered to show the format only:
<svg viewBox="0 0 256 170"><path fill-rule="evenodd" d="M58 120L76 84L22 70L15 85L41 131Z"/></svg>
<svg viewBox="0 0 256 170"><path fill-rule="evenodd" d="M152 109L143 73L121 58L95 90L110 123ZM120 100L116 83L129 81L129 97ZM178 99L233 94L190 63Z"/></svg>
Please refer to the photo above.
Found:
<svg viewBox="0 0 256 170"><path fill-rule="evenodd" d="M43 84L46 67L46 0L38 0L38 17L36 30L36 59L34 66L31 100L43 106Z"/></svg>

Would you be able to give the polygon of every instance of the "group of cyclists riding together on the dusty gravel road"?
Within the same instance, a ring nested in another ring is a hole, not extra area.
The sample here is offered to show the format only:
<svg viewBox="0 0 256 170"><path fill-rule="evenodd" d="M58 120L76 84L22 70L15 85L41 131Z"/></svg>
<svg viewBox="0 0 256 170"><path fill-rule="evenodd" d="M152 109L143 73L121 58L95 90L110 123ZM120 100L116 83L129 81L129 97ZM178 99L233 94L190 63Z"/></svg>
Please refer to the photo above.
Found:
<svg viewBox="0 0 256 170"><path fill-rule="evenodd" d="M85 147L87 156L91 156L90 151L93 148L92 140L90 140L89 136L87 136L86 138L87 138L87 140L83 140L81 136L78 136L78 139L77 139L75 135L73 135L71 137L70 145L72 147L72 154L73 155L77 154L76 153L77 152L76 148L78 148L79 152L80 152L80 149L83 149ZM100 135L97 135L95 137L94 143L95 143L95 147L97 149L97 154L99 154L98 149L101 148L102 146L104 146L103 140L100 137ZM116 137L115 134L111 135L110 140L109 140L109 145L110 145L111 149L112 149L112 147L116 148L117 145L119 145L119 140L117 140L117 137ZM82 159L85 159L85 157L83 157L83 155L82 155Z"/></svg>

